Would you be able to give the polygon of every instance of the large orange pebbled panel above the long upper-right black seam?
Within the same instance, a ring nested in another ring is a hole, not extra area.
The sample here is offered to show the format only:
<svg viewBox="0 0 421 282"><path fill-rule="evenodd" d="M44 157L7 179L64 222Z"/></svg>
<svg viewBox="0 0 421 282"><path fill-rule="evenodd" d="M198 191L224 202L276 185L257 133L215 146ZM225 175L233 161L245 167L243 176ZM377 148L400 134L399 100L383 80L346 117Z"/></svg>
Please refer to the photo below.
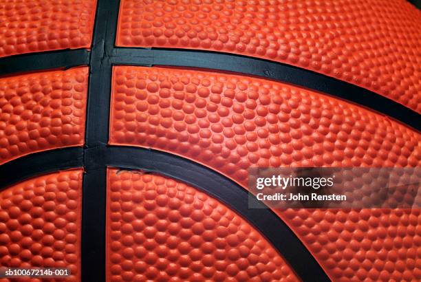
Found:
<svg viewBox="0 0 421 282"><path fill-rule="evenodd" d="M122 0L116 44L311 69L421 113L421 12L404 0Z"/></svg>

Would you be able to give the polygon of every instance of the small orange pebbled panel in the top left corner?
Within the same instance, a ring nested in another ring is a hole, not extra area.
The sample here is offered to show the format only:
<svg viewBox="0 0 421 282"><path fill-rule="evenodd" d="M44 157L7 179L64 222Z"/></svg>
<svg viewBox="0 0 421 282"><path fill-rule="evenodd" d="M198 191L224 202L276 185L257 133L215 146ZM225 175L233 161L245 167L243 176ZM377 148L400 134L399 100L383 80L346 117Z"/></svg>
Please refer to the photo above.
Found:
<svg viewBox="0 0 421 282"><path fill-rule="evenodd" d="M96 0L0 0L0 58L89 48Z"/></svg>

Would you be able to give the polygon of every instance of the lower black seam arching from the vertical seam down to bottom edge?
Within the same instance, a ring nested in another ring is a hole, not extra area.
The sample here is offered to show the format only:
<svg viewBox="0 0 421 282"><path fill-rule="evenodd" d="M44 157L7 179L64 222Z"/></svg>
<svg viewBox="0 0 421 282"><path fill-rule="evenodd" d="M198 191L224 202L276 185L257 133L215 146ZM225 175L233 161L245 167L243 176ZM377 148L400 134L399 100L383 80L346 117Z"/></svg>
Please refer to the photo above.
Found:
<svg viewBox="0 0 421 282"><path fill-rule="evenodd" d="M166 175L199 188L224 202L255 226L303 281L330 281L316 259L285 222L269 208L248 208L249 197L254 202L253 205L264 205L224 175L170 153L139 147L97 147L87 149L85 154L86 164L94 172L105 170L105 166L137 169ZM89 173L91 171L87 171Z"/></svg>

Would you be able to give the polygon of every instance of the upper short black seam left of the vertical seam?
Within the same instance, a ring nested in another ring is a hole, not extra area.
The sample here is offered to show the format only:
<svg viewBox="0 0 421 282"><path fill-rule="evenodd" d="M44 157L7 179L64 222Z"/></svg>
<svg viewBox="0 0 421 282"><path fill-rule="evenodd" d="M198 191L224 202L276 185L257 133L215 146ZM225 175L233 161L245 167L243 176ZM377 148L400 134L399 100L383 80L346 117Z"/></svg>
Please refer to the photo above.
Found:
<svg viewBox="0 0 421 282"><path fill-rule="evenodd" d="M89 63L89 50L57 50L0 58L0 76L48 69L69 69Z"/></svg>

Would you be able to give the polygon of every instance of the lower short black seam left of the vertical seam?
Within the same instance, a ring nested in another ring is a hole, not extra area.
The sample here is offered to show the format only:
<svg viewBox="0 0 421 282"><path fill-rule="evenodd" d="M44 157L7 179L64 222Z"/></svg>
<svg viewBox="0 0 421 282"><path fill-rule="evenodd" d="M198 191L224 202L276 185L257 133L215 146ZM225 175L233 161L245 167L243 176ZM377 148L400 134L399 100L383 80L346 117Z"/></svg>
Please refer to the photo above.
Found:
<svg viewBox="0 0 421 282"><path fill-rule="evenodd" d="M0 188L29 177L83 167L83 148L69 147L25 155L0 166Z"/></svg>

